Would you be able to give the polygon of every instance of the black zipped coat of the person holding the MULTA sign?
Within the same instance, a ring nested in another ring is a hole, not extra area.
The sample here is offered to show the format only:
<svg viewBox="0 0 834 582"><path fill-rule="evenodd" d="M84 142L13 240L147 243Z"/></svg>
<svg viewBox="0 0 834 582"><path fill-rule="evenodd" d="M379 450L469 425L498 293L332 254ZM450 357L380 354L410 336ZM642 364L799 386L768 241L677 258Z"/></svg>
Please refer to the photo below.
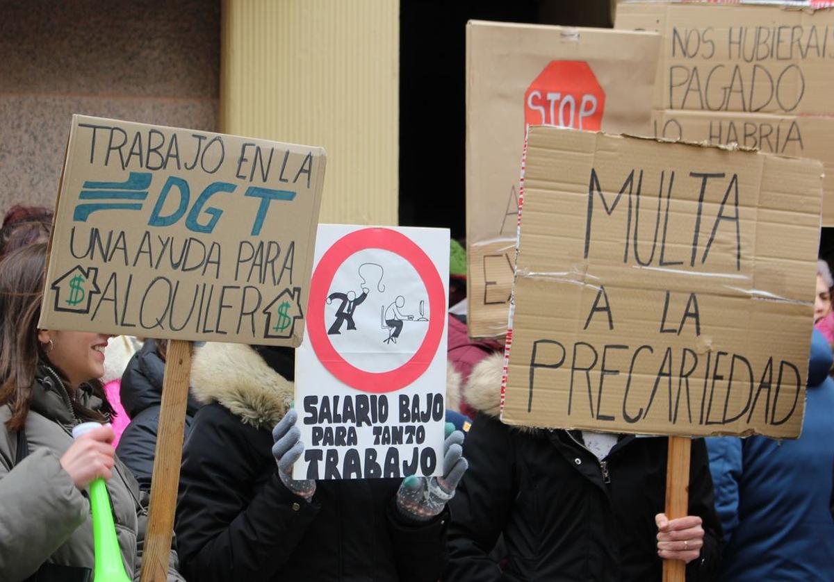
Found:
<svg viewBox="0 0 834 582"><path fill-rule="evenodd" d="M466 437L470 467L450 501L445 579L661 580L655 515L664 510L668 439L625 436L605 464L580 439L479 412ZM689 494L689 514L703 519L706 535L686 579L706 582L716 579L721 524L703 439L692 441ZM488 556L502 533L503 574Z"/></svg>

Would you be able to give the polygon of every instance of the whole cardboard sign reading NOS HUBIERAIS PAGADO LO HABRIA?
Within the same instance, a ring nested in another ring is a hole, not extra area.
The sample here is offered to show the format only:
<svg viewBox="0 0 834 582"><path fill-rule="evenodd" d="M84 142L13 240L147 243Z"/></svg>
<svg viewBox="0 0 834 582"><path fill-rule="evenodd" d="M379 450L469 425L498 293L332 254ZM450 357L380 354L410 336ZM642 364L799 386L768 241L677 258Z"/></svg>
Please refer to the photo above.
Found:
<svg viewBox="0 0 834 582"><path fill-rule="evenodd" d="M663 36L657 137L736 142L834 167L827 131L834 115L834 10L621 3L615 28ZM824 189L823 223L834 225L834 179Z"/></svg>

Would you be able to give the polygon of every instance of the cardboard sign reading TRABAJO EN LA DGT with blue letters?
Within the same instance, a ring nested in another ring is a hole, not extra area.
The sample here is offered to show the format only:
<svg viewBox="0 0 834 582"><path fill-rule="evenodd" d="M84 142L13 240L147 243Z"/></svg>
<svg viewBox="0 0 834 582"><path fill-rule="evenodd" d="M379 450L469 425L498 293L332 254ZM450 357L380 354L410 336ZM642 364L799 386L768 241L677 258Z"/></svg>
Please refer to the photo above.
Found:
<svg viewBox="0 0 834 582"><path fill-rule="evenodd" d="M73 116L38 327L298 346L324 150Z"/></svg>

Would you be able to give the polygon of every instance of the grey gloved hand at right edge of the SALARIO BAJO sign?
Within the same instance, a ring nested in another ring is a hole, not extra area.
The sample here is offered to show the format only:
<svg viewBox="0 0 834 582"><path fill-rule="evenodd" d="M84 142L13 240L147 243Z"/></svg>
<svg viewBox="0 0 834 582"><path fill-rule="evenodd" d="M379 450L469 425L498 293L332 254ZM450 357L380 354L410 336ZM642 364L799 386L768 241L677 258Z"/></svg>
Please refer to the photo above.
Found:
<svg viewBox="0 0 834 582"><path fill-rule="evenodd" d="M440 515L446 502L455 496L455 488L464 476L469 463L463 458L464 434L446 423L443 476L417 477L409 475L397 491L397 509L404 517L416 521L428 521Z"/></svg>

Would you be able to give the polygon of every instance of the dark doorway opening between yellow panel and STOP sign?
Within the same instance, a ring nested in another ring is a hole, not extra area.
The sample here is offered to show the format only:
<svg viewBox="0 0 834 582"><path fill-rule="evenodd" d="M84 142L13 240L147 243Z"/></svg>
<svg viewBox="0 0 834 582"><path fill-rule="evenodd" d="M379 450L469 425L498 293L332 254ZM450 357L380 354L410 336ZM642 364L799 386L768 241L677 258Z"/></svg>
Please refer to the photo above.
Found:
<svg viewBox="0 0 834 582"><path fill-rule="evenodd" d="M399 223L465 237L465 26L472 19L610 28L610 0L420 2L399 14Z"/></svg>

